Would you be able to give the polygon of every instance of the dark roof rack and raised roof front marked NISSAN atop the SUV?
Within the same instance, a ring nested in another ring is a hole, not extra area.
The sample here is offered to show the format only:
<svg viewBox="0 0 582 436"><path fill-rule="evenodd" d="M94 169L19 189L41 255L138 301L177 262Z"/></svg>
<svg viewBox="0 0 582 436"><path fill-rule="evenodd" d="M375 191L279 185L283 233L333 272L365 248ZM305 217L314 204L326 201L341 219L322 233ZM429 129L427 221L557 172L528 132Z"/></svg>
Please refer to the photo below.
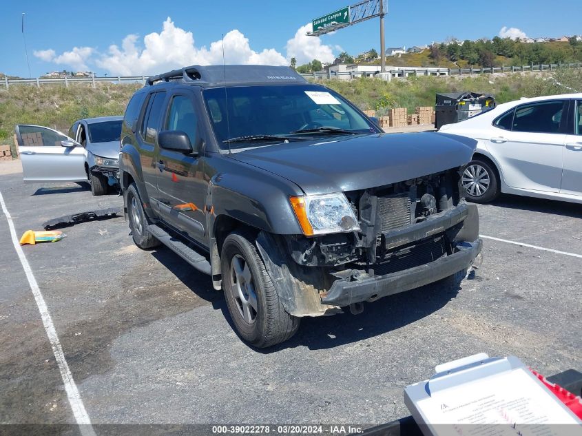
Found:
<svg viewBox="0 0 582 436"><path fill-rule="evenodd" d="M157 82L193 82L206 85L222 83L305 83L306 80L289 67L273 65L191 65L151 76L147 85Z"/></svg>

